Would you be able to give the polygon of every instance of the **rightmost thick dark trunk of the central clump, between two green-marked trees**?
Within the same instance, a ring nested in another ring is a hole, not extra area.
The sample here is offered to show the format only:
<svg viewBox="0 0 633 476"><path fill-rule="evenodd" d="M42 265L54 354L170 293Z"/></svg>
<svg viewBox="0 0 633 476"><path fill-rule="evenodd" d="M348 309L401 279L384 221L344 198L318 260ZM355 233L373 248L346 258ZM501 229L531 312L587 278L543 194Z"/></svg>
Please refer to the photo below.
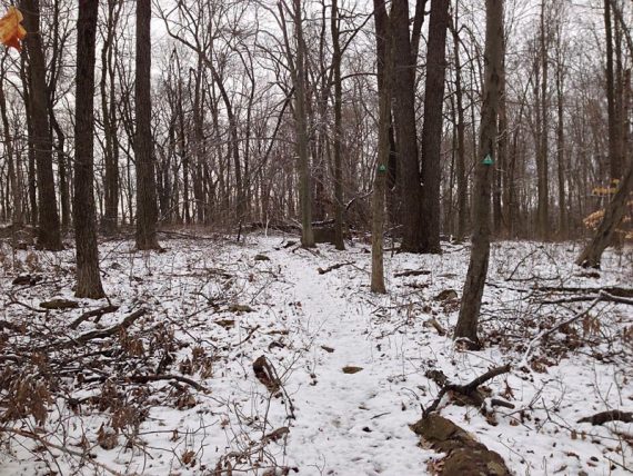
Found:
<svg viewBox="0 0 633 476"><path fill-rule="evenodd" d="M431 1L429 47L426 50L426 86L424 89L424 126L422 128L422 251L441 252L440 246L440 162L442 152L442 116L444 73L446 70L446 29L449 0Z"/></svg>

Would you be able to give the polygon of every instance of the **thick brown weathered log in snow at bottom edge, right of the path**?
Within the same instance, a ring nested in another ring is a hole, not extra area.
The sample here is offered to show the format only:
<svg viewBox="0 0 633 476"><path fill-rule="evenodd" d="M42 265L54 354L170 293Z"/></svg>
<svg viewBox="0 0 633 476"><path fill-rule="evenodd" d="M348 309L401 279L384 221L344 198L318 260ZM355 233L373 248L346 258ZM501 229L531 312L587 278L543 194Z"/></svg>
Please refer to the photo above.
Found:
<svg viewBox="0 0 633 476"><path fill-rule="evenodd" d="M446 453L435 466L441 476L510 476L499 453L491 452L463 428L440 415L429 415L411 429L436 452Z"/></svg>

